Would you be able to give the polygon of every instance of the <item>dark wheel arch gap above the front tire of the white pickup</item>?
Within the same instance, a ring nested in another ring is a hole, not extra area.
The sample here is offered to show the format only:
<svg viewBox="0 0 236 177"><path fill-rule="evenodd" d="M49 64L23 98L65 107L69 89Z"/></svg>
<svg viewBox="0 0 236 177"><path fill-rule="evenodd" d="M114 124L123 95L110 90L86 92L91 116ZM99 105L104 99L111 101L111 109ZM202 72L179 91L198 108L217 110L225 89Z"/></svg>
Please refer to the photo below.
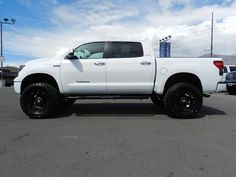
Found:
<svg viewBox="0 0 236 177"><path fill-rule="evenodd" d="M21 93L28 85L36 82L49 83L59 91L58 83L53 76L45 73L36 73L36 74L30 74L23 79L21 83Z"/></svg>

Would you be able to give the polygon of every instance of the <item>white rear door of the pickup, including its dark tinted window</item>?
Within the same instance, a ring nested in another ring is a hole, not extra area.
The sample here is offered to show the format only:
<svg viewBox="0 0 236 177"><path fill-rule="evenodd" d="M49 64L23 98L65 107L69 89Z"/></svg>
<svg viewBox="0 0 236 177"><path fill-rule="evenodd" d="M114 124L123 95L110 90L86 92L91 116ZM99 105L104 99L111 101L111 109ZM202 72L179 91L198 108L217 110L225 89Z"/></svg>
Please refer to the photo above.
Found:
<svg viewBox="0 0 236 177"><path fill-rule="evenodd" d="M151 94L154 57L146 55L140 42L110 42L107 59L109 94Z"/></svg>

